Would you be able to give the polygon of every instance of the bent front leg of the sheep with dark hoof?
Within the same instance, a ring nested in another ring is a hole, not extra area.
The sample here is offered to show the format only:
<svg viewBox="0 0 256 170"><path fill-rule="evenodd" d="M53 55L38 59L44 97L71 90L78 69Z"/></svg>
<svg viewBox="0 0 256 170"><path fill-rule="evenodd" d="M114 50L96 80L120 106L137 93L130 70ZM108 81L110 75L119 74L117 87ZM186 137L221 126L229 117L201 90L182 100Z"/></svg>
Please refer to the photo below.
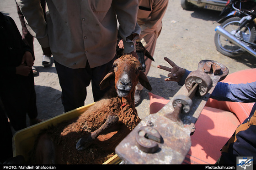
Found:
<svg viewBox="0 0 256 170"><path fill-rule="evenodd" d="M87 148L88 146L90 146L93 141L99 136L101 135L101 133L106 130L107 128L109 128L110 126L116 124L118 122L118 116L117 115L109 115L107 117L107 120L104 122L103 125L101 125L101 127L97 130L95 130L94 132L92 132L89 135L83 136L82 138L80 138L80 140L76 143L76 149L81 151L84 150L85 148Z"/></svg>

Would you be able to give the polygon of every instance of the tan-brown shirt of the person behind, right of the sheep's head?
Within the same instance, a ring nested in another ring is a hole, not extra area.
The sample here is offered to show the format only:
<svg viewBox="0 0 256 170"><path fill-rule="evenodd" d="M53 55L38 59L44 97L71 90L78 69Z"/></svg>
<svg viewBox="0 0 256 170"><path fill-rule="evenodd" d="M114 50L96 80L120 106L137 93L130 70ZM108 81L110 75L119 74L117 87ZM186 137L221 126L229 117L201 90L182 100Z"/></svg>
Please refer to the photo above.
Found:
<svg viewBox="0 0 256 170"><path fill-rule="evenodd" d="M139 0L137 22L141 27L139 40L153 32L159 33L162 19L165 15L169 0Z"/></svg>

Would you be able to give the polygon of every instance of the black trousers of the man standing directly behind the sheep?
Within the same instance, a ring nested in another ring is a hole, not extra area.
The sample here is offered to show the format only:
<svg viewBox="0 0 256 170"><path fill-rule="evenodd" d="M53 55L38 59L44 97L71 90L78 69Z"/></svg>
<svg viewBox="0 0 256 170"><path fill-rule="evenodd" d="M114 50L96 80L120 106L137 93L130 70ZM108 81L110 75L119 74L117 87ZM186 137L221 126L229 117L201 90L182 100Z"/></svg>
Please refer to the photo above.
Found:
<svg viewBox="0 0 256 170"><path fill-rule="evenodd" d="M103 97L109 88L100 90L99 84L112 69L115 58L109 63L95 68L90 68L87 62L85 68L79 69L71 69L54 61L59 76L62 104L65 112L85 105L86 87L90 85L90 82L94 101L100 100Z"/></svg>

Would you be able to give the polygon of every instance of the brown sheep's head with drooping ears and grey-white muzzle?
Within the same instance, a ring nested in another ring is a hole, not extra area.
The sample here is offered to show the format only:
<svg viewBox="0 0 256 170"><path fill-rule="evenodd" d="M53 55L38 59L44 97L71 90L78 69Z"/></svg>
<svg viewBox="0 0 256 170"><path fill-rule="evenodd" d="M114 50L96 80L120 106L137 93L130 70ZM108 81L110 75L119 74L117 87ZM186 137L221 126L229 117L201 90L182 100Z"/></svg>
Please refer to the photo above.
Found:
<svg viewBox="0 0 256 170"><path fill-rule="evenodd" d="M138 59L132 55L123 55L113 63L113 69L101 81L101 89L115 81L115 89L119 97L128 97L140 82L146 89L152 90L147 76L142 72L142 66Z"/></svg>

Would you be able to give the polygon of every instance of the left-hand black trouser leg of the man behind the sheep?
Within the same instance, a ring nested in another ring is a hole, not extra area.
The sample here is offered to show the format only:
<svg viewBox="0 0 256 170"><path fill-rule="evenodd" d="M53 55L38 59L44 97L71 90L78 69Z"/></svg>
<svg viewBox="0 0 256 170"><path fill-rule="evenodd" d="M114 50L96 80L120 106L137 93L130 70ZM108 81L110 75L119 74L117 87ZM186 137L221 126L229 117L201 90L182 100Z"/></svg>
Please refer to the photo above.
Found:
<svg viewBox="0 0 256 170"><path fill-rule="evenodd" d="M89 65L86 68L71 69L54 61L62 90L64 111L74 110L85 105L86 87L90 85L91 74Z"/></svg>

